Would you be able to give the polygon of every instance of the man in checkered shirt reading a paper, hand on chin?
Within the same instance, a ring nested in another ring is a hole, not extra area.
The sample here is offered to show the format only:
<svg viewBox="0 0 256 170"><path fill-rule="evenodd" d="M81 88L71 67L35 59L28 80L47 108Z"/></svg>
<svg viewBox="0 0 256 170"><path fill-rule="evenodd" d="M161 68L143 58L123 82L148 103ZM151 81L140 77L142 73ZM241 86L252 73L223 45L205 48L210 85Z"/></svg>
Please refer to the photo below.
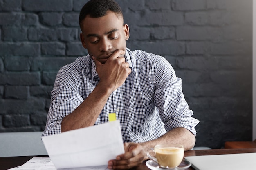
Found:
<svg viewBox="0 0 256 170"><path fill-rule="evenodd" d="M126 48L129 27L114 0L91 0L79 16L81 42L89 55L56 76L43 136L120 120L125 153L109 169L146 160L155 144L195 144L195 126L181 79L164 57ZM167 132L166 132L167 131Z"/></svg>

